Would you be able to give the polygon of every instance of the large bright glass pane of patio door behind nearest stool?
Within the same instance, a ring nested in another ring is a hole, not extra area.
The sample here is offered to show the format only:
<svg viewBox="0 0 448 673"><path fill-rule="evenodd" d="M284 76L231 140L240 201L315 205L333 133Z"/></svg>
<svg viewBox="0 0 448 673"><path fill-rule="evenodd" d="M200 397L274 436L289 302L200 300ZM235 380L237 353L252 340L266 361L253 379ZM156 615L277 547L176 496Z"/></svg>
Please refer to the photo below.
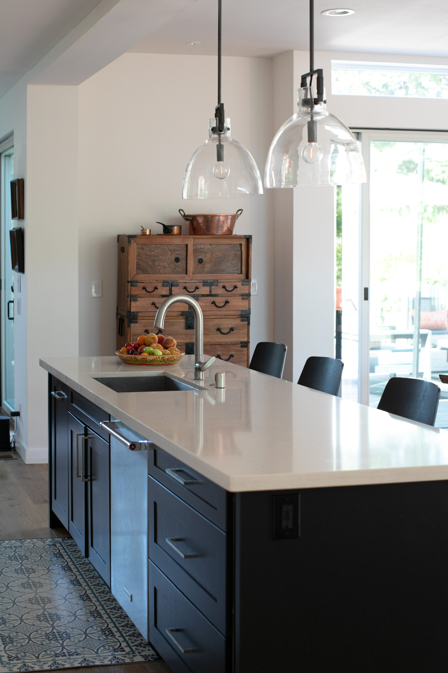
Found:
<svg viewBox="0 0 448 673"><path fill-rule="evenodd" d="M369 404L448 374L448 143L370 143ZM436 425L448 427L448 386Z"/></svg>

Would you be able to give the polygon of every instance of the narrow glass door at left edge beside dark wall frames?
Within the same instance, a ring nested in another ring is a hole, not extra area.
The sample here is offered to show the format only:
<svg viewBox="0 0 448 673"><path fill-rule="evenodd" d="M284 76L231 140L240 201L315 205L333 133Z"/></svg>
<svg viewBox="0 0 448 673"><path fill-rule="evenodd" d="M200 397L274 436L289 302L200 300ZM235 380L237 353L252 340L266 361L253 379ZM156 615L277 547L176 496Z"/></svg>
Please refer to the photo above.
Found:
<svg viewBox="0 0 448 673"><path fill-rule="evenodd" d="M6 147L0 153L0 364L1 406L5 411L14 411L14 274L9 242L13 179L14 151Z"/></svg>

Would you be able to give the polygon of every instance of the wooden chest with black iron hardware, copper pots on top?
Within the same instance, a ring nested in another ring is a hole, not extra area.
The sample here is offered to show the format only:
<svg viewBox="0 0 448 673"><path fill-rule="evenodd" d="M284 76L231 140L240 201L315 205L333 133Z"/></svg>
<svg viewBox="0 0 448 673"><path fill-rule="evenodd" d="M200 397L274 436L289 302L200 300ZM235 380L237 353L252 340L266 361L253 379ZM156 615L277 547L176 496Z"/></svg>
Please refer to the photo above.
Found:
<svg viewBox="0 0 448 673"><path fill-rule="evenodd" d="M154 330L165 297L184 294L204 314L204 353L249 366L252 236L118 236L117 349ZM187 304L167 312L177 347L194 353Z"/></svg>

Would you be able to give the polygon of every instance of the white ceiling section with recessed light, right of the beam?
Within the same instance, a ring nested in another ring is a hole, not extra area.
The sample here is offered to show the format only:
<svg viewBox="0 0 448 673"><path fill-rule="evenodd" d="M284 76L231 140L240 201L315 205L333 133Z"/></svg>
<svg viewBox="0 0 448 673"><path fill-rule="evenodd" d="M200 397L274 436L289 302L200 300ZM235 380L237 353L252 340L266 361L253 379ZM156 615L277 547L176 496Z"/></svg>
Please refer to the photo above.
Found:
<svg viewBox="0 0 448 673"><path fill-rule="evenodd" d="M447 0L315 0L316 51L448 56ZM131 51L216 54L217 0L198 0ZM308 50L308 0L222 0L222 52ZM337 7L353 15L322 16ZM199 41L195 46L187 41Z"/></svg>

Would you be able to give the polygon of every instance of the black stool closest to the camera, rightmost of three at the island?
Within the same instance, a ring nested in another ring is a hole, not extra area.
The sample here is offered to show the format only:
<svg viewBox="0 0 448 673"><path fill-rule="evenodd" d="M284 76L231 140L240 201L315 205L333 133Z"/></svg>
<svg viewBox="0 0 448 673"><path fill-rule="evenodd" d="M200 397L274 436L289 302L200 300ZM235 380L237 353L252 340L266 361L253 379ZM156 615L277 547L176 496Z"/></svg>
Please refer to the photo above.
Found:
<svg viewBox="0 0 448 673"><path fill-rule="evenodd" d="M440 388L435 383L395 376L388 380L377 409L434 425L439 398Z"/></svg>

